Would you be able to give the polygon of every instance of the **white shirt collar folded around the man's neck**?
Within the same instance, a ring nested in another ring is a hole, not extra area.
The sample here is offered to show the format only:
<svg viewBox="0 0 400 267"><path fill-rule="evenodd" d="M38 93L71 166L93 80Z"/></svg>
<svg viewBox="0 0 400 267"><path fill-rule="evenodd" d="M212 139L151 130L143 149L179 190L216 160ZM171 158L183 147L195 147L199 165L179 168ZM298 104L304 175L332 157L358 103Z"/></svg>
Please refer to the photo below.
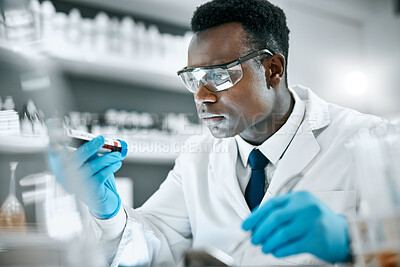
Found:
<svg viewBox="0 0 400 267"><path fill-rule="evenodd" d="M303 121L305 112L304 102L291 89L289 89L289 91L294 98L294 107L292 113L285 124L282 125L282 127L270 138L265 140L261 145L254 146L243 140L240 135L235 136L243 166L247 167L249 155L254 148L258 148L261 153L263 153L264 156L266 156L273 164L276 164L286 151L294 135L296 134L297 129Z"/></svg>

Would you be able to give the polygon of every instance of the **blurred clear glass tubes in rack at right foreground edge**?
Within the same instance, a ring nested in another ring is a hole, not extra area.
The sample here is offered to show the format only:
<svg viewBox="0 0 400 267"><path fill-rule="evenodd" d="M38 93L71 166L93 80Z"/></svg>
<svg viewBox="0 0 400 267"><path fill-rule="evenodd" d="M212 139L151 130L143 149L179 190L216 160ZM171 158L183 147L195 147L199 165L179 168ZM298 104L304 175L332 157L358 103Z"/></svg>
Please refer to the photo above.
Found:
<svg viewBox="0 0 400 267"><path fill-rule="evenodd" d="M400 266L399 148L400 131L390 124L361 129L347 145L360 195L358 213L349 218L356 266Z"/></svg>

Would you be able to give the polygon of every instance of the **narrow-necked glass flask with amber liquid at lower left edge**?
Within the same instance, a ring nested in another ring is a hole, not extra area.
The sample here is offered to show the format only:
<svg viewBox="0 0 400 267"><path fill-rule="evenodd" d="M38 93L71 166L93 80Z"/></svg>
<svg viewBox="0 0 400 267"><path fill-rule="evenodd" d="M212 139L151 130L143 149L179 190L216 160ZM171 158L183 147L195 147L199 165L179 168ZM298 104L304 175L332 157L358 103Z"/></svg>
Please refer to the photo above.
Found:
<svg viewBox="0 0 400 267"><path fill-rule="evenodd" d="M15 169L18 162L10 162L10 194L0 208L0 230L25 231L25 211L15 196Z"/></svg>

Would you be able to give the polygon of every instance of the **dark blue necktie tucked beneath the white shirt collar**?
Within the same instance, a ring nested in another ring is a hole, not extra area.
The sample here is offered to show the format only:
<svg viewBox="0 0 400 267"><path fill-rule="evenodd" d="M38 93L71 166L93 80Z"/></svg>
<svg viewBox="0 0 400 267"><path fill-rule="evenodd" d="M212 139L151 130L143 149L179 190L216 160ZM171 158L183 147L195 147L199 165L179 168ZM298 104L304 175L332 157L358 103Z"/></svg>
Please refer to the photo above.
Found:
<svg viewBox="0 0 400 267"><path fill-rule="evenodd" d="M250 153L249 162L251 167L251 176L244 196L250 210L253 210L258 204L260 204L264 197L264 169L268 164L268 159L260 152L260 150L254 149Z"/></svg>

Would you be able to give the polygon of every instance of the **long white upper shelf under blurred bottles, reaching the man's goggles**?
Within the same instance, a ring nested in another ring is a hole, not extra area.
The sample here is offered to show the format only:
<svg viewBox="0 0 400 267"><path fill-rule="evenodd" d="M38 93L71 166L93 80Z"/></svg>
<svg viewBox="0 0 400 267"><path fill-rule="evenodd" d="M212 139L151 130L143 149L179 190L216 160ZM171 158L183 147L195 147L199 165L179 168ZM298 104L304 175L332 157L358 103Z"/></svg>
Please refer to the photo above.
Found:
<svg viewBox="0 0 400 267"><path fill-rule="evenodd" d="M160 72L151 66L141 64L141 62L124 59L122 55L99 57L95 53L88 53L86 56L77 52L55 53L49 51L42 43L11 46L9 43L0 41L0 48L24 55L28 53L31 55L47 54L49 60L55 63L60 70L79 77L107 79L135 86L143 85L156 90L190 94L176 75L175 70Z"/></svg>

